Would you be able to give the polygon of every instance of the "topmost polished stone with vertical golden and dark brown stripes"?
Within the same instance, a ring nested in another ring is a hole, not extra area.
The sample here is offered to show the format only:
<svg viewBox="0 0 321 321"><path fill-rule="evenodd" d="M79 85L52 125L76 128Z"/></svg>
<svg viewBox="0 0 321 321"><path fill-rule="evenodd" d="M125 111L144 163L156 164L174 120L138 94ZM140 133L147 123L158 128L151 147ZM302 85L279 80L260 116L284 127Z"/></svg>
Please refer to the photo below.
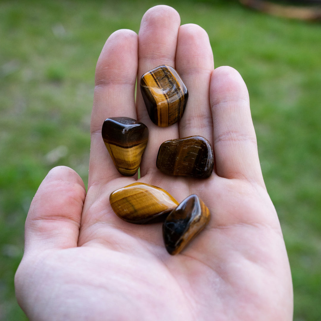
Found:
<svg viewBox="0 0 321 321"><path fill-rule="evenodd" d="M167 127L181 119L188 91L173 67L162 65L143 74L140 88L148 115L155 125Z"/></svg>

